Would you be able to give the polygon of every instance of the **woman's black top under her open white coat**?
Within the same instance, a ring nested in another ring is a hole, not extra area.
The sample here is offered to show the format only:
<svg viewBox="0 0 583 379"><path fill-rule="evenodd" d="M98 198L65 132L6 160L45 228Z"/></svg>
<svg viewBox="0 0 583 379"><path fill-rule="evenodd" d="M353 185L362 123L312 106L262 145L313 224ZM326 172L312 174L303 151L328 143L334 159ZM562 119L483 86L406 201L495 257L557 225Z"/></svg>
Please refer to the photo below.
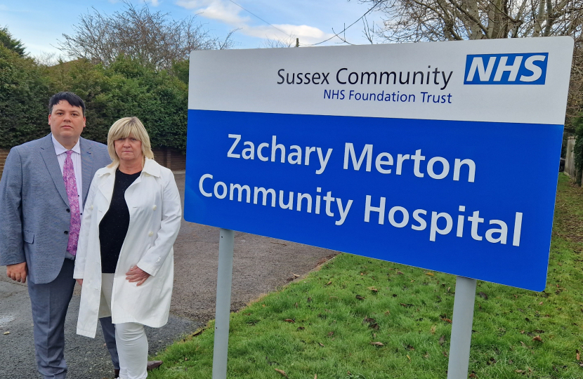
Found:
<svg viewBox="0 0 583 379"><path fill-rule="evenodd" d="M114 274L119 251L122 250L124 239L129 227L129 209L124 194L126 189L136 181L140 173L131 175L115 171L112 201L107 213L99 223L99 246L101 248L101 272Z"/></svg>

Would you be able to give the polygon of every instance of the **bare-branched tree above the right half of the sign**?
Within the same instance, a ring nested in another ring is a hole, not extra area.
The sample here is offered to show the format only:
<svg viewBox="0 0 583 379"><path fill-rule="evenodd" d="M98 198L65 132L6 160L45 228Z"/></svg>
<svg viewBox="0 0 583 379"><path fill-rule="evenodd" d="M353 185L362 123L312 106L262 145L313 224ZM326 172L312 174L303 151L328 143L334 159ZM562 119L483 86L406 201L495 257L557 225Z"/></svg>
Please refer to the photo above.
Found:
<svg viewBox="0 0 583 379"><path fill-rule="evenodd" d="M583 0L360 0L384 14L385 41L579 36Z"/></svg>

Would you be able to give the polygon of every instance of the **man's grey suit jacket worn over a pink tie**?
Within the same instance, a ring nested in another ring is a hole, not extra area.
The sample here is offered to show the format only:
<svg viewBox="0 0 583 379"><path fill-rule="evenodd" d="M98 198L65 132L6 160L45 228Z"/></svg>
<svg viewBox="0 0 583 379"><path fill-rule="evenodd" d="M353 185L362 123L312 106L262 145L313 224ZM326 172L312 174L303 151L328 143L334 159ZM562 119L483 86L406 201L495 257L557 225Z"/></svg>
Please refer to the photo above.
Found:
<svg viewBox="0 0 583 379"><path fill-rule="evenodd" d="M80 139L83 206L107 146ZM51 134L13 147L0 180L0 265L27 262L28 279L53 281L65 260L71 213Z"/></svg>

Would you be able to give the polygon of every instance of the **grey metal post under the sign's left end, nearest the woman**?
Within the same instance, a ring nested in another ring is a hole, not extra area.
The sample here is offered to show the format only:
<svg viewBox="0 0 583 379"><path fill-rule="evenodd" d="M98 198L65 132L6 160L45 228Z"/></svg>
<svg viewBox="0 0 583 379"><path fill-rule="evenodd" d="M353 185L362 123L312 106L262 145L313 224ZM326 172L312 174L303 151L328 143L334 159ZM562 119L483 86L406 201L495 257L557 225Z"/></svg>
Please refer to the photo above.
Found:
<svg viewBox="0 0 583 379"><path fill-rule="evenodd" d="M231 309L232 250L235 232L221 229L218 240L218 273L216 277L216 310L214 324L213 379L227 378L229 317Z"/></svg>

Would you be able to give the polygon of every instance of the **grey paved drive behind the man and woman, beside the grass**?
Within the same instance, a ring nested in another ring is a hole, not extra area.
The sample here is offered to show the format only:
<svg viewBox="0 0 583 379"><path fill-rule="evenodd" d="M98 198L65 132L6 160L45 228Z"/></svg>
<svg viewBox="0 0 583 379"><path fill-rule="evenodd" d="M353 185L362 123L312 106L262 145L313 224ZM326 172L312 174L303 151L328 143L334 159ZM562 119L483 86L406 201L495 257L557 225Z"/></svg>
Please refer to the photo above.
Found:
<svg viewBox="0 0 583 379"><path fill-rule="evenodd" d="M184 191L184 174L176 174ZM336 252L287 241L235 233L235 258L231 310L286 284L294 274L305 274ZM174 292L169 323L147 328L150 354L214 318L218 229L183 220L174 244ZM25 285L5 278L0 267L0 379L36 379L32 315ZM100 328L95 339L75 334L79 288L71 301L65 323L65 358L69 379L109 378L113 366ZM5 332L10 332L4 335Z"/></svg>

